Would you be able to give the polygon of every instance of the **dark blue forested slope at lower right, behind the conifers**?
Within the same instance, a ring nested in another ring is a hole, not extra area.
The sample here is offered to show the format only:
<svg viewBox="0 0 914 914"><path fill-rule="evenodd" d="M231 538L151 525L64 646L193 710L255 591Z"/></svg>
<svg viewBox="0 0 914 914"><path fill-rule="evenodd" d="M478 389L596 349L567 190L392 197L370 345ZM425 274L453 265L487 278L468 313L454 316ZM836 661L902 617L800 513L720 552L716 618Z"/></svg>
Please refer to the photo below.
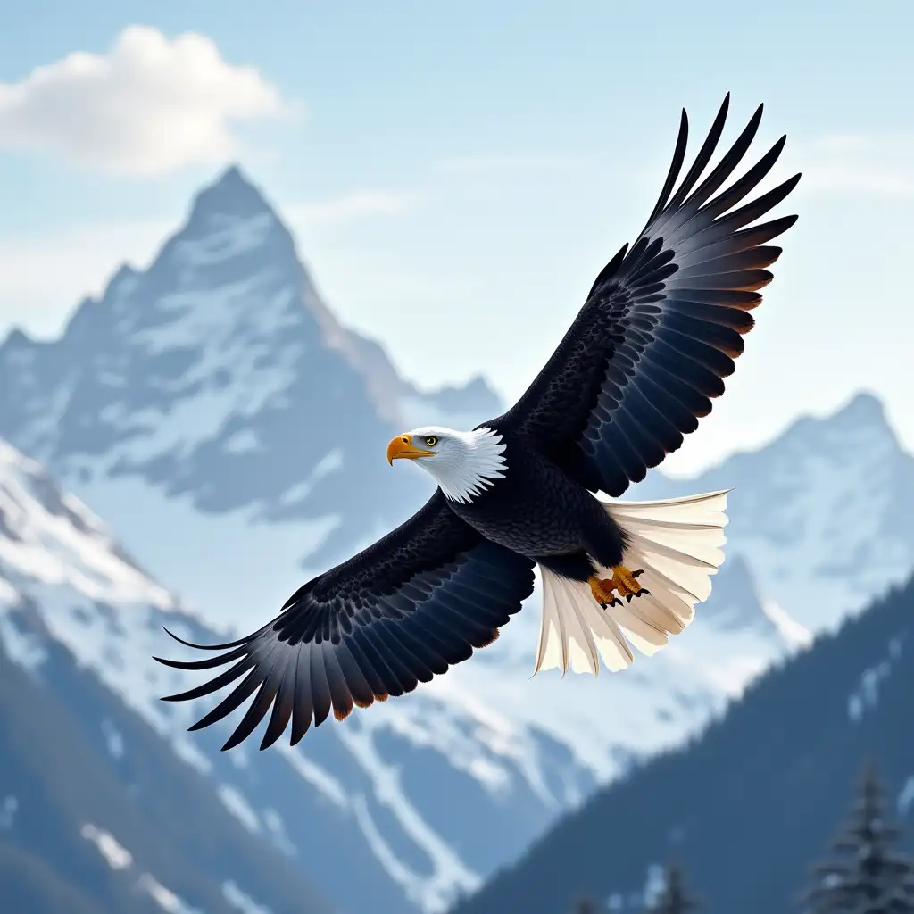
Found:
<svg viewBox="0 0 914 914"><path fill-rule="evenodd" d="M790 910L877 760L914 846L914 581L749 688L692 745L599 792L454 914L634 909L675 857L707 914Z"/></svg>

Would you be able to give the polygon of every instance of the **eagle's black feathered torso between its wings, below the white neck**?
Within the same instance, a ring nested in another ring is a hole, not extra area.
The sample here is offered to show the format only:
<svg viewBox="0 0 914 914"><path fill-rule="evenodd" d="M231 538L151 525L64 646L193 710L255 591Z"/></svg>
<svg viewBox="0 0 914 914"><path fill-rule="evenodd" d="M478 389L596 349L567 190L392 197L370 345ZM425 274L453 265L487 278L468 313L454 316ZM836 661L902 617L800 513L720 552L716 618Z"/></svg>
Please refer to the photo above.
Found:
<svg viewBox="0 0 914 914"><path fill-rule="evenodd" d="M497 422L491 433L499 435ZM530 441L501 437L504 477L472 500L449 499L454 514L486 539L571 579L593 574L590 557L619 565L622 531L600 502Z"/></svg>

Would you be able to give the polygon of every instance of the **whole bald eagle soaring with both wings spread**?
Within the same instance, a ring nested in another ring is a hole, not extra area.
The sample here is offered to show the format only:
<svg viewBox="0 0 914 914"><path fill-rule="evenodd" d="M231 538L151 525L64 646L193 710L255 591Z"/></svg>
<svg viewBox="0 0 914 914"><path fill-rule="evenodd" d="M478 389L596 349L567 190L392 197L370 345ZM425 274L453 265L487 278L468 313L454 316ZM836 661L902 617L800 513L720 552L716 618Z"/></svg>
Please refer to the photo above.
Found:
<svg viewBox="0 0 914 914"><path fill-rule="evenodd" d="M165 701L241 682L191 730L253 696L223 749L270 711L260 749L292 722L295 745L331 709L411 692L492 643L542 579L537 672L597 674L663 647L707 600L723 561L726 492L608 503L664 460L711 411L743 351L749 314L771 282L768 244L795 216L758 218L794 175L743 204L786 137L728 179L759 128L762 106L702 180L729 96L682 183L688 119L645 228L593 283L568 333L512 409L470 431L427 426L397 435L388 462L415 463L437 482L406 523L292 594L280 615L186 670L232 664ZM700 181L700 183L699 183ZM726 186L725 186L726 185ZM675 189L674 189L675 188ZM749 227L749 228L747 228ZM168 632L171 634L171 632ZM175 635L172 635L175 637Z"/></svg>

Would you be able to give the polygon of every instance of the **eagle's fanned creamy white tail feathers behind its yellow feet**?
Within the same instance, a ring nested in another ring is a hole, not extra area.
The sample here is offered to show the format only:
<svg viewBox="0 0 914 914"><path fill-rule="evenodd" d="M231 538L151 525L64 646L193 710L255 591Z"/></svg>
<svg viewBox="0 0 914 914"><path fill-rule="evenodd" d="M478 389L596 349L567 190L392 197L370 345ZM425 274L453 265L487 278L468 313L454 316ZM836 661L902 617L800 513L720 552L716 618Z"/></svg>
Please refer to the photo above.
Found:
<svg viewBox="0 0 914 914"><path fill-rule="evenodd" d="M600 657L610 670L622 670L634 660L630 644L654 654L682 632L695 618L696 603L710 595L711 575L724 560L728 491L604 505L628 535L622 564L643 569L638 583L649 592L604 610L590 584L540 568L543 619L534 675L552 667L597 675ZM611 578L611 569L601 576Z"/></svg>

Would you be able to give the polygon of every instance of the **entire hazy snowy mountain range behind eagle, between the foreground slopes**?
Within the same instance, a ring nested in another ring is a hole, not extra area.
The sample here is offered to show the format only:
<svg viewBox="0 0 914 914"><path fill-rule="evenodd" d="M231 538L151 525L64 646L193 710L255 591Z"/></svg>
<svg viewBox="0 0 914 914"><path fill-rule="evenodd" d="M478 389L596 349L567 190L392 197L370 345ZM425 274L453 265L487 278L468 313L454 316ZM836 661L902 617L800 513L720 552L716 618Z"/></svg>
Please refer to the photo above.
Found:
<svg viewBox="0 0 914 914"><path fill-rule="evenodd" d="M60 339L10 335L0 388L0 436L46 464L181 594L179 604L141 575L160 600L143 605L183 613L176 632L204 642L259 626L309 571L420 505L429 481L384 461L393 433L420 421L466 428L500 411L480 380L413 388L379 345L341 327L237 169L197 197L148 270L123 268L100 300L80 304ZM125 609L119 618L131 623L118 625L102 614L86 623L91 637L81 623L48 622L37 643L96 658L90 668L112 694L165 720L159 732L177 757L343 909L441 910L598 782L680 744L808 643L794 619L832 624L914 567L914 531L892 513L914 499L912 463L865 398L699 480L654 474L632 497L737 487L715 593L664 653L624 675L531 681L537 593L472 662L328 722L294 750L221 754L224 732L184 734L189 718L156 699L192 677L178 684L149 660L175 654L152 610ZM80 512L86 535L116 556ZM834 595L830 557L860 563ZM34 586L37 612L58 613L58 591ZM828 600L813 612L820 591ZM109 668L106 656L129 663Z"/></svg>

